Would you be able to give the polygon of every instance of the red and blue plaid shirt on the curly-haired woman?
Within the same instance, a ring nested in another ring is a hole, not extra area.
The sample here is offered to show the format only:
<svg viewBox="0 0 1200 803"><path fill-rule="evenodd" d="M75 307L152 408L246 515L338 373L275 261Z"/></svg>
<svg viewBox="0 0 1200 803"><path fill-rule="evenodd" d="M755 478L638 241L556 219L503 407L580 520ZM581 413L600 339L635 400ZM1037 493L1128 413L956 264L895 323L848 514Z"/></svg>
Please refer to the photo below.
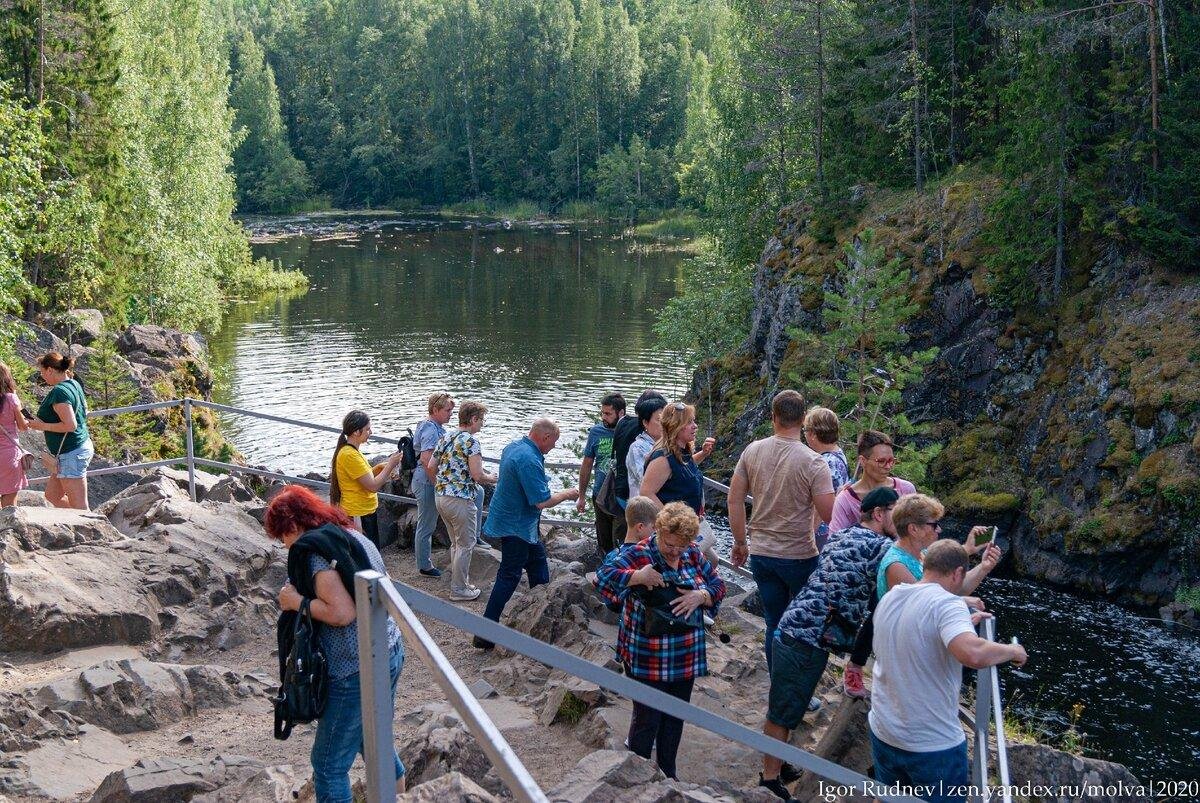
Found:
<svg viewBox="0 0 1200 803"><path fill-rule="evenodd" d="M683 551L678 569L668 567L659 552L655 535L613 551L596 571L596 581L605 599L624 606L617 630L617 654L629 667L629 675L643 681L686 681L708 675L703 627L680 635L647 636L642 633L646 606L631 593L629 579L644 565L654 565L664 580L676 586L706 589L713 598L713 607L706 609L709 616L716 616L725 599L725 581L695 544Z"/></svg>

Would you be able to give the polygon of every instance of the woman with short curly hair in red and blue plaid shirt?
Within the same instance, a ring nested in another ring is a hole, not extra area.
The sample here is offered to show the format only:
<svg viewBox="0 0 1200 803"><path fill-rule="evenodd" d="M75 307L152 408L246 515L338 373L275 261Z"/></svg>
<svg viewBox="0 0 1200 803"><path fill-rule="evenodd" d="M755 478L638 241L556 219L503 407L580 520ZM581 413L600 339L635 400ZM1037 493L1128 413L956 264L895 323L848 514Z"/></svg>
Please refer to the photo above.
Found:
<svg viewBox="0 0 1200 803"><path fill-rule="evenodd" d="M613 552L596 571L596 581L601 594L624 607L617 653L625 664L625 675L689 701L696 678L708 675L700 609L716 616L725 582L692 543L700 519L691 508L682 502L668 503L659 511L654 528L655 535ZM674 597L665 593L672 588ZM673 616L664 616L667 610ZM682 736L682 719L634 703L629 749L649 759L656 744L659 767L667 778L676 777Z"/></svg>

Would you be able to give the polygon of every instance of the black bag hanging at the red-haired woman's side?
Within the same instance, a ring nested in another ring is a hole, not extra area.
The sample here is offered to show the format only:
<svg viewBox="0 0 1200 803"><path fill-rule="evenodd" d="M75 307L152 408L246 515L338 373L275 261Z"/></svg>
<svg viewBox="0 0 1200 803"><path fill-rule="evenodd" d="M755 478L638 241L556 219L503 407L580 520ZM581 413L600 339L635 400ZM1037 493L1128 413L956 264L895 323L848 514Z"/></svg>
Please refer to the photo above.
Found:
<svg viewBox="0 0 1200 803"><path fill-rule="evenodd" d="M313 621L307 599L294 617L290 630L284 627L278 631L282 683L278 696L271 697L275 738L281 741L292 736L294 725L320 719L329 696L329 666L320 649L320 623Z"/></svg>

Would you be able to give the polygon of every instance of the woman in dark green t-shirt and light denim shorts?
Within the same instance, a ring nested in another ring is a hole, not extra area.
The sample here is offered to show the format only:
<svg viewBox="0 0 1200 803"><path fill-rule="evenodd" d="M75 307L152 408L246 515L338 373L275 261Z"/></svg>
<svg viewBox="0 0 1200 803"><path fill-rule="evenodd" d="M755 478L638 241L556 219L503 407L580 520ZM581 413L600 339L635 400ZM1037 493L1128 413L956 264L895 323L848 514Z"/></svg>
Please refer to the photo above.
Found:
<svg viewBox="0 0 1200 803"><path fill-rule="evenodd" d="M88 509L88 465L95 456L88 432L88 403L83 388L71 376L74 359L50 352L37 361L42 382L50 392L37 408L29 429L46 433L47 454L42 456L49 471L46 498L55 508Z"/></svg>

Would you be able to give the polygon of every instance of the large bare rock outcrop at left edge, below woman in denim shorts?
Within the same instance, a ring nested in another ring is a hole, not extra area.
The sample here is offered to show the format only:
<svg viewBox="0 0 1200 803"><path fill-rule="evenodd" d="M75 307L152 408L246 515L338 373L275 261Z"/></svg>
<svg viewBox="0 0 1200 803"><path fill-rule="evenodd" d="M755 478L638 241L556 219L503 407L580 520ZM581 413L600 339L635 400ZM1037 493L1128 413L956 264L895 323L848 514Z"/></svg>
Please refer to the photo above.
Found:
<svg viewBox="0 0 1200 803"><path fill-rule="evenodd" d="M180 648L232 646L277 613L277 588L259 583L275 580L280 547L246 514L196 504L162 477L97 513L4 510L0 556L0 640L10 649L163 634Z"/></svg>

